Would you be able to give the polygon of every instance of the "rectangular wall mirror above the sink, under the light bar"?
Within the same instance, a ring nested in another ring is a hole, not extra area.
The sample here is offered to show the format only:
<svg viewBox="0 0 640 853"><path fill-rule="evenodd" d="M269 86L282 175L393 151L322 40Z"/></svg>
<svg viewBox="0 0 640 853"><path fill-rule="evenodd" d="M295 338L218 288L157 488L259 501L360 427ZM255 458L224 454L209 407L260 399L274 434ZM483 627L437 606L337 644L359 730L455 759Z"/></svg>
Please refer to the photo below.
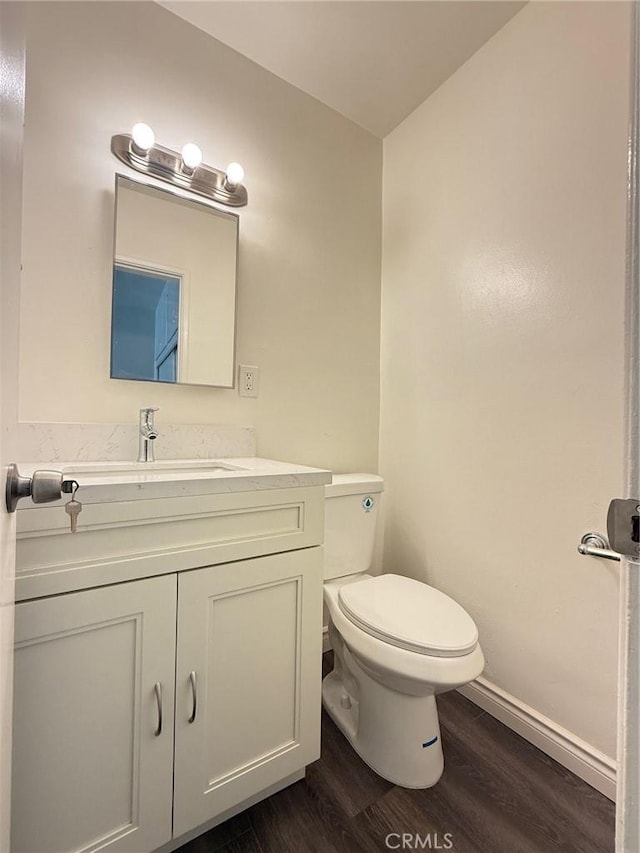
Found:
<svg viewBox="0 0 640 853"><path fill-rule="evenodd" d="M116 176L111 378L233 388L238 216Z"/></svg>

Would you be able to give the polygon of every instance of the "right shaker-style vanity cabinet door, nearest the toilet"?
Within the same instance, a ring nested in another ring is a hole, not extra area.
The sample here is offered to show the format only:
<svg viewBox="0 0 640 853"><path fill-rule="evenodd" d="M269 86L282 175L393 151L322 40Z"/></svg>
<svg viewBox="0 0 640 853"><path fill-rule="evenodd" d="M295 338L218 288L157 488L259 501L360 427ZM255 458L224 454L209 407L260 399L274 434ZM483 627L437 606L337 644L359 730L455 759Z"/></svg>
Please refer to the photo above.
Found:
<svg viewBox="0 0 640 853"><path fill-rule="evenodd" d="M178 579L174 837L320 756L322 549Z"/></svg>

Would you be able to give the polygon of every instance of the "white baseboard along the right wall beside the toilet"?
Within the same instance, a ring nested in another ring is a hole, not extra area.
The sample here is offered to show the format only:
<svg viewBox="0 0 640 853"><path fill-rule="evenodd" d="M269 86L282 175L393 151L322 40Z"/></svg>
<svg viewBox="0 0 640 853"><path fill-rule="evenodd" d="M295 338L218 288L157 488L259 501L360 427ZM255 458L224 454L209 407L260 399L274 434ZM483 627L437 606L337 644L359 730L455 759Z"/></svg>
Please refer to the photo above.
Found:
<svg viewBox="0 0 640 853"><path fill-rule="evenodd" d="M610 800L616 798L616 762L548 717L516 699L486 678L478 678L458 692L474 702L567 770L575 773Z"/></svg>

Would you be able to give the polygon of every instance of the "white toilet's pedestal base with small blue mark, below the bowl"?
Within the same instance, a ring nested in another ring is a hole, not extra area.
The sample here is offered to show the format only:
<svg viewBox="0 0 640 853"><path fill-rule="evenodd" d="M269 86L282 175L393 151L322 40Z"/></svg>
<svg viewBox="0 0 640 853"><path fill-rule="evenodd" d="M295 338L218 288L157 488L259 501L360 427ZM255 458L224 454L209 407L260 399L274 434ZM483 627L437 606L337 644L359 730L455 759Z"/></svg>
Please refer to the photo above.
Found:
<svg viewBox="0 0 640 853"><path fill-rule="evenodd" d="M331 719L379 776L403 788L435 785L444 770L435 696L390 690L337 645L334 669L322 682Z"/></svg>

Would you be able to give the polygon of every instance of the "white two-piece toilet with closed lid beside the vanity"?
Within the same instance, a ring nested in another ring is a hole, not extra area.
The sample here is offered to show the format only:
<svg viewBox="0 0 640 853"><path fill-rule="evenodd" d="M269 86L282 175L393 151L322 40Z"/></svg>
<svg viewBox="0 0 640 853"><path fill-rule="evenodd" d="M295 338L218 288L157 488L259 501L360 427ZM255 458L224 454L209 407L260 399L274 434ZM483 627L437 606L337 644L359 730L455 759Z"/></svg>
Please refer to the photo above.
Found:
<svg viewBox="0 0 640 853"><path fill-rule="evenodd" d="M324 600L334 667L322 703L358 755L404 788L444 769L436 694L483 670L472 618L448 595L370 574L382 477L334 474L325 486Z"/></svg>

